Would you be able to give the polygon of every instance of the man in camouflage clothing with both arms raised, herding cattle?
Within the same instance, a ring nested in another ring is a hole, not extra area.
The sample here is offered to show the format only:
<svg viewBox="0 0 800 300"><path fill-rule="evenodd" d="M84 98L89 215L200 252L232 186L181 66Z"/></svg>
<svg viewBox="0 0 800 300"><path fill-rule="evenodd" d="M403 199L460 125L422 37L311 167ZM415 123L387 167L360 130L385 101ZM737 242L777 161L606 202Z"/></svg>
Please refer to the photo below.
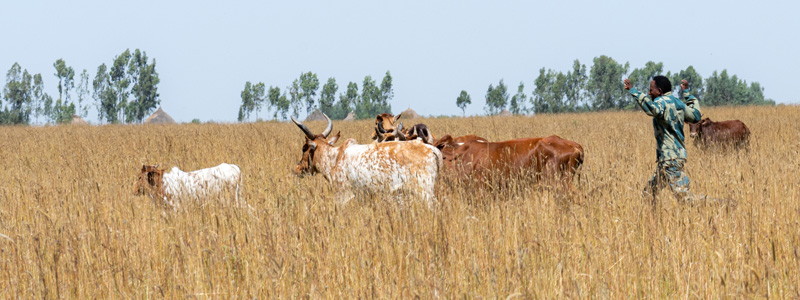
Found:
<svg viewBox="0 0 800 300"><path fill-rule="evenodd" d="M656 76L650 81L649 95L633 88L627 78L623 81L625 89L636 98L637 106L653 117L653 131L656 137L656 172L647 182L643 193L656 194L669 186L679 200L690 200L689 177L683 171L686 163L686 146L683 142L683 122L700 121L700 105L697 98L688 92L689 83L681 80L685 100L672 95L672 83L667 77Z"/></svg>

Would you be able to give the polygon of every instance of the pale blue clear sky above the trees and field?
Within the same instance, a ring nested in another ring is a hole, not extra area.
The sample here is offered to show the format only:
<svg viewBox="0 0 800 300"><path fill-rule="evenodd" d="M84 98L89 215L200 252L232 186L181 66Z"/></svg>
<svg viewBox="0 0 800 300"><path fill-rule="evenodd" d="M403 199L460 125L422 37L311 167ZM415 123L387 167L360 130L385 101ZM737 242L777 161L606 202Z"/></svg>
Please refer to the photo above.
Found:
<svg viewBox="0 0 800 300"><path fill-rule="evenodd" d="M93 79L126 49L156 61L161 106L178 122L235 122L246 82L281 90L301 73L333 77L338 94L392 75L393 113L484 113L502 79L530 96L539 69L568 72L607 55L631 70L648 61L703 78L727 69L777 103L800 70L797 1L3 1L0 70L41 73L58 96L53 63ZM5 86L5 81L3 81ZM91 87L90 87L91 88ZM338 98L338 97L337 97ZM91 100L94 103L94 100ZM530 106L530 105L528 105ZM261 112L259 117L265 117ZM305 111L299 116L305 117ZM97 123L94 107L87 118Z"/></svg>

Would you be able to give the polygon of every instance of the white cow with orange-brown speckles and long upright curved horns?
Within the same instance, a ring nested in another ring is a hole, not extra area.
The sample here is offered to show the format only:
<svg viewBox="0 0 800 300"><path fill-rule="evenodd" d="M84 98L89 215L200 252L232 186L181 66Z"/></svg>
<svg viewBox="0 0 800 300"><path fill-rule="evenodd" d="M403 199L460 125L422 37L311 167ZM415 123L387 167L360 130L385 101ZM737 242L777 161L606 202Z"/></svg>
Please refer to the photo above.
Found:
<svg viewBox="0 0 800 300"><path fill-rule="evenodd" d="M339 139L339 133L328 139L333 123L328 116L325 118L328 127L322 134L314 135L292 117L306 139L295 174L321 173L328 182L339 187L340 192L345 192L339 195L341 202L352 198L353 192L399 192L433 206L436 201L434 185L442 168L439 149L418 140L360 145L354 139L348 139L336 147L333 144Z"/></svg>

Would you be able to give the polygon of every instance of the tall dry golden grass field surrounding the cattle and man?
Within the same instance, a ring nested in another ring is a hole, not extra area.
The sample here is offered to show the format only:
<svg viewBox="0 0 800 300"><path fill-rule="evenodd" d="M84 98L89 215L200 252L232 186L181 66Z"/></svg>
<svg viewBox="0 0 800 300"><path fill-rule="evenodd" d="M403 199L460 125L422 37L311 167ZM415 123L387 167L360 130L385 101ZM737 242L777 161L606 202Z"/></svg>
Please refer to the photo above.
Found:
<svg viewBox="0 0 800 300"><path fill-rule="evenodd" d="M731 202L643 198L655 140L641 112L405 120L586 151L572 197L439 181L434 210L334 203L321 176L291 173L303 134L290 122L2 127L0 298L800 297L800 107L704 113L753 133L749 152L687 140L693 192ZM340 130L366 143L372 121ZM241 167L253 210L133 195L142 164L221 162Z"/></svg>

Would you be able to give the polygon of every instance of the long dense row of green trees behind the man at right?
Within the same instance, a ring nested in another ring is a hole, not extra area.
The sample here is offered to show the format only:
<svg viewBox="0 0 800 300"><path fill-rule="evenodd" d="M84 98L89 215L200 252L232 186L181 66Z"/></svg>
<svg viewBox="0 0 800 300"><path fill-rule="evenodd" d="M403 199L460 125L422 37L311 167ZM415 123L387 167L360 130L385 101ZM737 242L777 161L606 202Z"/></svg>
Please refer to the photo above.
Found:
<svg viewBox="0 0 800 300"><path fill-rule="evenodd" d="M703 106L775 105L772 99L764 99L764 88L758 82L748 84L736 75L728 75L727 70L714 71L711 77L703 79L692 66L676 73L664 73L663 63L650 61L628 73L629 63L623 65L605 55L594 58L593 63L588 72L586 65L577 59L566 74L539 69L530 97L524 92L524 83L520 82L517 93L509 100L508 88L500 80L497 86L489 85L485 110L492 115L504 109L513 114L633 109L633 98L627 96L622 80L627 77L636 89L648 91L656 75L670 78L675 85L673 92L679 92L681 79L688 80L689 89ZM461 91L456 105L463 111L471 103L470 98L466 91Z"/></svg>

